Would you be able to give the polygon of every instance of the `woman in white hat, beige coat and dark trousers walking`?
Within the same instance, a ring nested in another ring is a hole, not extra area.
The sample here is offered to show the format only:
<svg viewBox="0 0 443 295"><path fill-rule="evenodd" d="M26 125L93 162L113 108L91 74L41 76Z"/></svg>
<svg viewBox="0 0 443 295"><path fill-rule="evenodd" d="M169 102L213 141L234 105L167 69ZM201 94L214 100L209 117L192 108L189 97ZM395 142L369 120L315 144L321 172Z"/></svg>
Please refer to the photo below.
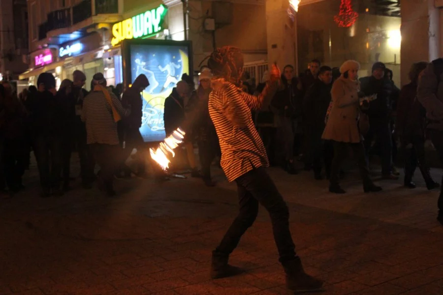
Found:
<svg viewBox="0 0 443 295"><path fill-rule="evenodd" d="M362 136L358 129L360 104L358 91L358 70L360 64L355 60L347 60L340 67L341 76L332 86L332 108L329 113L322 138L334 142L334 159L331 166L329 191L336 194L346 193L340 187L340 167L348 155L348 148L352 148L353 155L358 162L360 176L363 180L365 192L378 192L381 187L376 186L369 177L368 166Z"/></svg>

